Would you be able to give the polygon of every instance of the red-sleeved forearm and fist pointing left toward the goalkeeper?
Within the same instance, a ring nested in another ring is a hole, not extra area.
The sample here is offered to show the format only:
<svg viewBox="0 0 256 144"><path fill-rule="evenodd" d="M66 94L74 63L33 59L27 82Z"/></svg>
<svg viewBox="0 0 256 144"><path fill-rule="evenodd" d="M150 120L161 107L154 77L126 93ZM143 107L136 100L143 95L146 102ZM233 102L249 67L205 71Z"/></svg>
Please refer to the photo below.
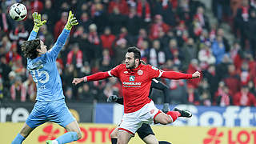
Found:
<svg viewBox="0 0 256 144"><path fill-rule="evenodd" d="M72 83L74 85L78 85L78 83L81 83L81 82L90 82L90 81L98 81L98 80L102 80L102 79L105 79L105 78L110 78L110 74L109 72L98 72L98 73L95 73L95 74L91 74L89 76L86 76L86 77L83 77L83 78L74 78Z"/></svg>

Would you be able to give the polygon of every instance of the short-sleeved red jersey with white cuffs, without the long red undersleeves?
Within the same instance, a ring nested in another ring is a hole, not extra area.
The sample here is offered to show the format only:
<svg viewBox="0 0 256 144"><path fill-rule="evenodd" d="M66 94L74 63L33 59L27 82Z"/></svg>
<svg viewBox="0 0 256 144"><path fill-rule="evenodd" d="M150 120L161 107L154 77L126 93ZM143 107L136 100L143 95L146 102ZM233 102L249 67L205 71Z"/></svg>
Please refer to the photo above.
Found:
<svg viewBox="0 0 256 144"><path fill-rule="evenodd" d="M110 76L118 77L122 82L124 113L140 110L150 102L148 96L151 79L160 77L161 71L153 66L142 64L134 70L127 69L125 64L110 70Z"/></svg>

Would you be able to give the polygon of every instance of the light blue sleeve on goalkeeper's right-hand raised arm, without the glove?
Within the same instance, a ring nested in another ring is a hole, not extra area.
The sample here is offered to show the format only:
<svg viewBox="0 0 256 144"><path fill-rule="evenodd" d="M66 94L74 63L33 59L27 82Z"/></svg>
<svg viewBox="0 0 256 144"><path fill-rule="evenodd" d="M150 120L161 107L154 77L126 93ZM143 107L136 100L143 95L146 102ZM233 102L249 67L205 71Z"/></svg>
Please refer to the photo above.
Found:
<svg viewBox="0 0 256 144"><path fill-rule="evenodd" d="M63 29L62 34L58 36L57 42L55 42L53 48L49 50L47 53L47 56L50 60L50 62L53 62L58 57L58 53L62 49L62 47L65 45L66 39L68 38L70 34L70 30Z"/></svg>

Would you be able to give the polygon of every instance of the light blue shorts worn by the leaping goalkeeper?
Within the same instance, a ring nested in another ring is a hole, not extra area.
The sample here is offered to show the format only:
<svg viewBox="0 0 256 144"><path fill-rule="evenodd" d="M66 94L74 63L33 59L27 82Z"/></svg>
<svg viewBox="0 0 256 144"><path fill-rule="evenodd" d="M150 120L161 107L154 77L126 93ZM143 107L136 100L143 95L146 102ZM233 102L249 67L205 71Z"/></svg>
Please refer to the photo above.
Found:
<svg viewBox="0 0 256 144"><path fill-rule="evenodd" d="M53 102L36 102L29 118L26 119L26 124L35 128L48 121L56 122L63 127L75 121L64 98Z"/></svg>

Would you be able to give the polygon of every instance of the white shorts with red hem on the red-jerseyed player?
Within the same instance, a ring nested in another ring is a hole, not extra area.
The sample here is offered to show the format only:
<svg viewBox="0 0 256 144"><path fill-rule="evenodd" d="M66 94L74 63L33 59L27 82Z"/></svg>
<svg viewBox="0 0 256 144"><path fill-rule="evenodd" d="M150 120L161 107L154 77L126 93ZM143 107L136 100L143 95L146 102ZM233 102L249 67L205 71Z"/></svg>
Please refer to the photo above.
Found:
<svg viewBox="0 0 256 144"><path fill-rule="evenodd" d="M130 134L135 134L135 132L142 126L142 123L152 124L154 117L161 113L154 106L154 102L151 101L143 106L140 110L133 113L123 114L122 122L118 127L118 130L124 130Z"/></svg>

